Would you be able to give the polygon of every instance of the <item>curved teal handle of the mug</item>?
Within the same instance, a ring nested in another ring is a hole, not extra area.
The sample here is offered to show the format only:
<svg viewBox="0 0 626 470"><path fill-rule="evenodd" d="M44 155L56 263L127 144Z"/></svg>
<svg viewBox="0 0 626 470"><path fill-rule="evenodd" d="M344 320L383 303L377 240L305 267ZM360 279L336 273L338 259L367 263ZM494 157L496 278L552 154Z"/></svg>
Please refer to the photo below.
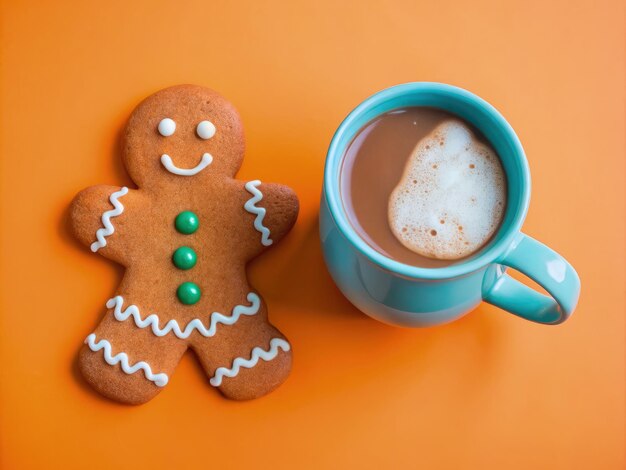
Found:
<svg viewBox="0 0 626 470"><path fill-rule="evenodd" d="M514 315L537 323L558 325L567 320L580 295L580 279L565 259L543 243L520 233L496 261L527 275L551 297L516 281L508 274L488 276L483 299ZM499 268L501 269L501 268Z"/></svg>

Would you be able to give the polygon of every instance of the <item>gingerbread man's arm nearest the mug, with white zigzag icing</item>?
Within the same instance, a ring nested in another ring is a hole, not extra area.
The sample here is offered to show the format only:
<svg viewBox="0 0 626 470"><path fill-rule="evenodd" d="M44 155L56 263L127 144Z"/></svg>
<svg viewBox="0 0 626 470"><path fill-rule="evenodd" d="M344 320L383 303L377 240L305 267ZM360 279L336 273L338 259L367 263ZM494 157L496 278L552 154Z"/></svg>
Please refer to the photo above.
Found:
<svg viewBox="0 0 626 470"><path fill-rule="evenodd" d="M260 245L268 247L278 243L298 217L300 205L295 192L288 186L259 180L248 181L244 188L248 193L244 209L251 214L250 223Z"/></svg>

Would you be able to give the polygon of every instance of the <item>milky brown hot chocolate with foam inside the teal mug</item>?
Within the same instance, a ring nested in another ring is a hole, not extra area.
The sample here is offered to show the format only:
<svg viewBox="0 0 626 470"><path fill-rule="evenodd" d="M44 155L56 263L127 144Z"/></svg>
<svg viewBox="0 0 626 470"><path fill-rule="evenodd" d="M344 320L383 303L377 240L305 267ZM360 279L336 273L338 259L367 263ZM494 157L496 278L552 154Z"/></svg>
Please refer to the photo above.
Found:
<svg viewBox="0 0 626 470"><path fill-rule="evenodd" d="M480 251L506 207L496 152L470 125L434 108L394 110L366 124L346 150L340 185L359 236L423 268Z"/></svg>

